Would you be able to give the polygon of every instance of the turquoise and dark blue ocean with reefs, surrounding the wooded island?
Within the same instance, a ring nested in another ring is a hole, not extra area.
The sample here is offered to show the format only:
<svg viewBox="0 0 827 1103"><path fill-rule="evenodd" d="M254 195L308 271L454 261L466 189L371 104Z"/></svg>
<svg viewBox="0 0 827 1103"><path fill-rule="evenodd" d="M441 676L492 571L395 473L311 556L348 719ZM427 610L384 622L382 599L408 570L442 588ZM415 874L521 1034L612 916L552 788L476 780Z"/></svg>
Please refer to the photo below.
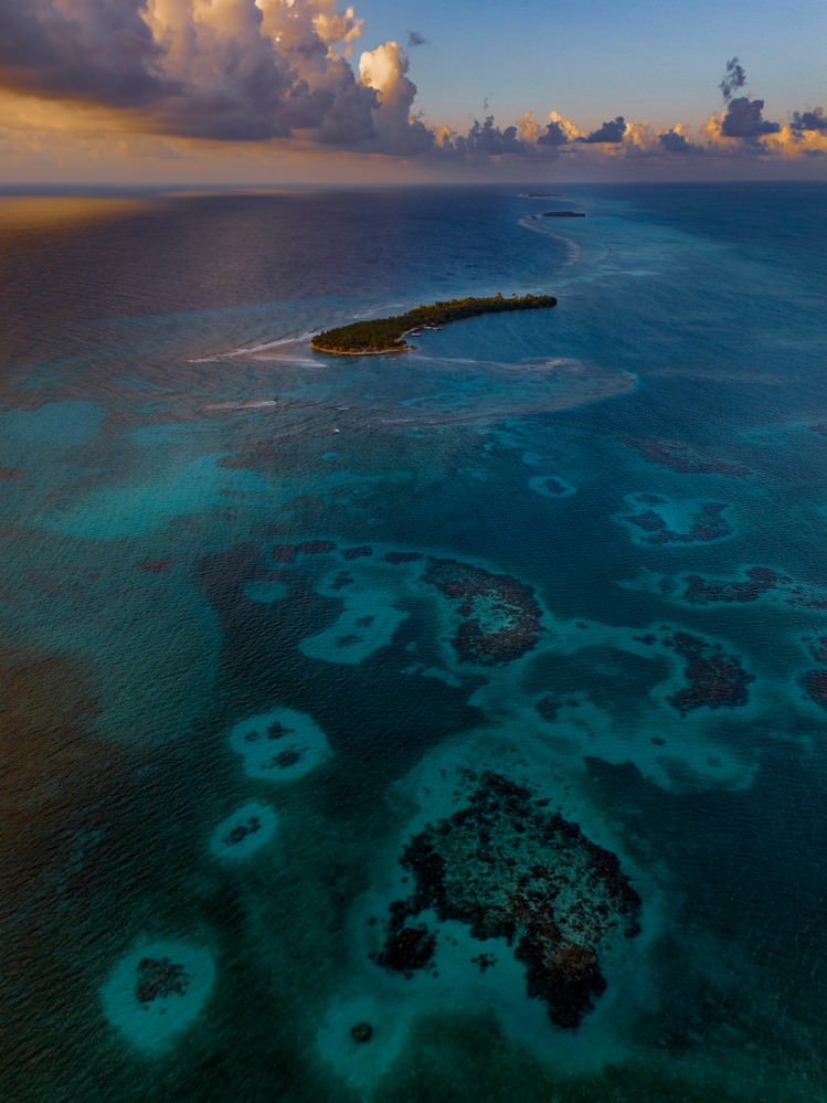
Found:
<svg viewBox="0 0 827 1103"><path fill-rule="evenodd" d="M3 1099L827 1099L825 241L0 195Z"/></svg>

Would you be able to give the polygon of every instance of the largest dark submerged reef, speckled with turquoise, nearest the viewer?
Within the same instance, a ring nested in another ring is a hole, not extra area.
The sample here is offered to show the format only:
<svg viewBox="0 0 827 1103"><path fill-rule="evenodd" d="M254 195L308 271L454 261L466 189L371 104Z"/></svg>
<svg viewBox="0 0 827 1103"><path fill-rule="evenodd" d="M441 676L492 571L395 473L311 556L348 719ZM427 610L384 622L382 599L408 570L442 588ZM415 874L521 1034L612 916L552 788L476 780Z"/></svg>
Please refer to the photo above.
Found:
<svg viewBox="0 0 827 1103"><path fill-rule="evenodd" d="M409 977L431 966L438 932L420 915L433 911L467 924L475 938L503 938L528 995L555 1026L577 1027L606 987L600 953L613 936L639 933L640 898L617 856L549 812L548 799L490 771L468 771L466 783L468 803L404 847L414 891L391 904L373 956ZM480 971L496 963L494 954L471 958Z"/></svg>

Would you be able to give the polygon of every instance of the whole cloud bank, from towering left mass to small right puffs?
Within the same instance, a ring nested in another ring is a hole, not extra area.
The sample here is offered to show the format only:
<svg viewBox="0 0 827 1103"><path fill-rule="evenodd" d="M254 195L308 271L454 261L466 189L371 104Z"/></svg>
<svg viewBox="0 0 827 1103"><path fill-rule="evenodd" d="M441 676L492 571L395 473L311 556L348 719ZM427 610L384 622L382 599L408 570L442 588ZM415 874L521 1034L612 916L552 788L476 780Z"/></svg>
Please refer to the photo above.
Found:
<svg viewBox="0 0 827 1103"><path fill-rule="evenodd" d="M347 150L470 166L827 152L824 109L794 112L783 125L764 118L764 100L742 92L738 57L719 85L722 109L696 136L681 124L655 131L623 115L591 131L556 112L544 121L527 110L501 123L487 103L483 121L465 134L431 126L414 110L406 51L390 41L354 57L364 21L338 2L0 0L0 99L47 105L55 129L71 107L73 119L104 118L125 141L130 134L181 148L192 138L242 141L263 158L272 142L290 140L328 157ZM407 32L409 50L426 41ZM71 129L81 132L76 121Z"/></svg>

